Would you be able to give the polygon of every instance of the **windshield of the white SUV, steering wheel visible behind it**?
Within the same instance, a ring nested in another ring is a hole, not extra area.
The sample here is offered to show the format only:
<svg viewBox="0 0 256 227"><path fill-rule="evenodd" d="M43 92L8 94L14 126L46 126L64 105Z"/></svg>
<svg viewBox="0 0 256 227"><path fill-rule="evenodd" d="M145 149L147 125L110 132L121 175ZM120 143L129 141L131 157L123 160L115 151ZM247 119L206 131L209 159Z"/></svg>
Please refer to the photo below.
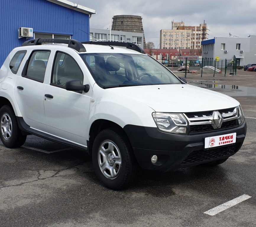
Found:
<svg viewBox="0 0 256 227"><path fill-rule="evenodd" d="M103 88L181 84L179 79L148 55L123 53L80 54L95 82Z"/></svg>

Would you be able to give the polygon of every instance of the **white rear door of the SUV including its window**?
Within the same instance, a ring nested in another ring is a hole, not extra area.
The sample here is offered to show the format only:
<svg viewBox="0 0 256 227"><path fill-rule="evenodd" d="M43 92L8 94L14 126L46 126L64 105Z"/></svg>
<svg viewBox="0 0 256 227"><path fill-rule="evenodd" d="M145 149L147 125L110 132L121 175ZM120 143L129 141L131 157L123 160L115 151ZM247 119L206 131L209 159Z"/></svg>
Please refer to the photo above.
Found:
<svg viewBox="0 0 256 227"><path fill-rule="evenodd" d="M24 121L35 129L46 130L44 113L45 74L48 70L50 50L34 50L30 54L22 75L17 75L14 97Z"/></svg>

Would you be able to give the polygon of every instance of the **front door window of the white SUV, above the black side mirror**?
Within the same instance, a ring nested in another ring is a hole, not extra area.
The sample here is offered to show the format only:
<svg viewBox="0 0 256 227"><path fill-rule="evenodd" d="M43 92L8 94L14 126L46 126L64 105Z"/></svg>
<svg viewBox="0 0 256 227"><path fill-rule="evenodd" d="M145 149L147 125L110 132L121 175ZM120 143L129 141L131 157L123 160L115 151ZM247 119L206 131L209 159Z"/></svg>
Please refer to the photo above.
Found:
<svg viewBox="0 0 256 227"><path fill-rule="evenodd" d="M80 80L83 84L84 76L77 62L68 54L57 52L51 76L51 85L65 87L70 80Z"/></svg>

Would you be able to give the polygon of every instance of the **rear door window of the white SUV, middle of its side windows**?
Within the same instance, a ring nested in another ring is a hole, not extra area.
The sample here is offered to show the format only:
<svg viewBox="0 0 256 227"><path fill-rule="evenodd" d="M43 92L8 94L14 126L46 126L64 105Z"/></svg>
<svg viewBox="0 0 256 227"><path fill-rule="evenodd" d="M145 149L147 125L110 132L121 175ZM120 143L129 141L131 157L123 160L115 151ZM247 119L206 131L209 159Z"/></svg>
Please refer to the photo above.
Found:
<svg viewBox="0 0 256 227"><path fill-rule="evenodd" d="M33 51L27 65L25 77L43 82L50 51Z"/></svg>

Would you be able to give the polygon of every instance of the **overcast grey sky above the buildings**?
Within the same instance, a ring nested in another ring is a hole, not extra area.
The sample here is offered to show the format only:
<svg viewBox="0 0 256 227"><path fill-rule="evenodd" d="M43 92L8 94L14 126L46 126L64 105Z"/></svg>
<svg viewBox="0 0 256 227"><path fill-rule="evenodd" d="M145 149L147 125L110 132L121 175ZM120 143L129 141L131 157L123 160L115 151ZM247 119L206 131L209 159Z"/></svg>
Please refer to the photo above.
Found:
<svg viewBox="0 0 256 227"><path fill-rule="evenodd" d="M171 21L197 26L204 20L208 38L256 35L256 0L70 0L95 9L90 27L109 29L114 15L142 16L146 43L159 44L160 30L171 29Z"/></svg>

